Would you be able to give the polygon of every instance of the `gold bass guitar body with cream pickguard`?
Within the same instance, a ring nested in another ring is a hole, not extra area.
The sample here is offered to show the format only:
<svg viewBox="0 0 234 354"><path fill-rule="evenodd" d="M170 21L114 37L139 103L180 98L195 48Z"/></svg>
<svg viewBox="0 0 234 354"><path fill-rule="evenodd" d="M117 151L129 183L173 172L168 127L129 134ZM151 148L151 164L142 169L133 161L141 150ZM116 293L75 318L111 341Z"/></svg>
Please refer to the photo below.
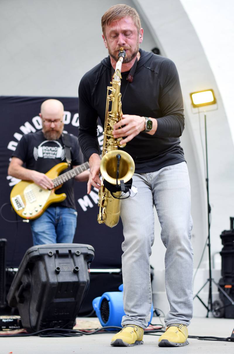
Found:
<svg viewBox="0 0 234 354"><path fill-rule="evenodd" d="M55 165L46 173L50 179L58 177L59 173L68 168L66 162ZM10 200L15 212L24 219L36 219L41 216L52 203L58 203L67 198L65 193L55 194L59 185L51 190L44 189L31 181L17 183L11 191Z"/></svg>

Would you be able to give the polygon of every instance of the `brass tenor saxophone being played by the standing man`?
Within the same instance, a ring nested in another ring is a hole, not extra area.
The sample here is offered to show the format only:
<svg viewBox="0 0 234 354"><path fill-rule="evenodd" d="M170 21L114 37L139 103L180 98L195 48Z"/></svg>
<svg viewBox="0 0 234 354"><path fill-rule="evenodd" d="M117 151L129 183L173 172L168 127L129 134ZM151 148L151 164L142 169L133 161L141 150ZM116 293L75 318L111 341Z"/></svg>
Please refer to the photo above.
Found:
<svg viewBox="0 0 234 354"><path fill-rule="evenodd" d="M125 56L126 52L121 47L119 60L110 82L112 86L107 86L103 151L100 164L102 182L98 193L99 214L97 221L99 224L105 223L109 227L114 227L119 222L122 191L115 192L113 196L113 193L105 185L120 186L122 181L128 182L135 171L132 157L125 151L118 150L119 147L124 147L126 144L120 146L122 138L113 137L113 126L121 120L122 116L120 85L121 67ZM111 109L109 110L110 105ZM105 181L109 184L106 184Z"/></svg>

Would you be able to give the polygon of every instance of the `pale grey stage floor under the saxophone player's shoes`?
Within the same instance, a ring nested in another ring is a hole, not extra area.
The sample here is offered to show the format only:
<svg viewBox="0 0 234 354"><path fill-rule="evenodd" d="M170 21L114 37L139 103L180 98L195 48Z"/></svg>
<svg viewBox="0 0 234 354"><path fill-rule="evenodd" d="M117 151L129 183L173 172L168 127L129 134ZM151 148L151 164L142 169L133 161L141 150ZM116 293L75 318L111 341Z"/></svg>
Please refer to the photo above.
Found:
<svg viewBox="0 0 234 354"><path fill-rule="evenodd" d="M157 317L153 323L159 323ZM78 318L76 328L97 328L97 318ZM230 337L234 327L233 319L193 318L188 327L191 336ZM159 334L159 333L158 333ZM112 333L84 335L81 337L53 338L53 337L9 337L1 338L0 354L101 354L101 353L172 353L181 351L186 354L220 354L233 353L234 342L201 341L189 338L189 345L181 348L160 348L157 345L158 336L144 335L144 344L135 347L111 347ZM133 349L134 348L134 349Z"/></svg>

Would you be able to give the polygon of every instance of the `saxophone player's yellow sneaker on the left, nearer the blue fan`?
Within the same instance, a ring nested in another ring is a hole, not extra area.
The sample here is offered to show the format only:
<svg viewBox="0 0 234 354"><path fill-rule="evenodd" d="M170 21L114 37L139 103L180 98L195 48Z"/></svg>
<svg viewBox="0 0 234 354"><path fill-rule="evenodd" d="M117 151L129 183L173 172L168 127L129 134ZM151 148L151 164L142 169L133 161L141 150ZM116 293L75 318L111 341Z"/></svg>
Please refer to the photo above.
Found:
<svg viewBox="0 0 234 354"><path fill-rule="evenodd" d="M132 347L137 344L143 344L143 334L143 328L136 325L127 325L114 335L110 345L114 347Z"/></svg>

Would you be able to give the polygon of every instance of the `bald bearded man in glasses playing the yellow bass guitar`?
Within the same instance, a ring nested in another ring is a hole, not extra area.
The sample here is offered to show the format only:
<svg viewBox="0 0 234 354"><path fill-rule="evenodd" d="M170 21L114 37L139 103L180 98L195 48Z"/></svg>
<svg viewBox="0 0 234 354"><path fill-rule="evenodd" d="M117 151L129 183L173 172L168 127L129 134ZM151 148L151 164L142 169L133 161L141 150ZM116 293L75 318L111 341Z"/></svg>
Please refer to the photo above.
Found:
<svg viewBox="0 0 234 354"><path fill-rule="evenodd" d="M44 190L51 190L53 182L45 173L66 161L66 150L71 152L71 168L83 162L78 139L63 133L63 114L63 104L57 99L47 99L42 103L39 114L42 130L21 138L12 154L8 175L33 181ZM81 172L74 179L88 181L89 171ZM59 193L67 195L65 200L50 205L39 218L30 220L34 245L73 242L77 217L73 183L72 178L59 189Z"/></svg>

